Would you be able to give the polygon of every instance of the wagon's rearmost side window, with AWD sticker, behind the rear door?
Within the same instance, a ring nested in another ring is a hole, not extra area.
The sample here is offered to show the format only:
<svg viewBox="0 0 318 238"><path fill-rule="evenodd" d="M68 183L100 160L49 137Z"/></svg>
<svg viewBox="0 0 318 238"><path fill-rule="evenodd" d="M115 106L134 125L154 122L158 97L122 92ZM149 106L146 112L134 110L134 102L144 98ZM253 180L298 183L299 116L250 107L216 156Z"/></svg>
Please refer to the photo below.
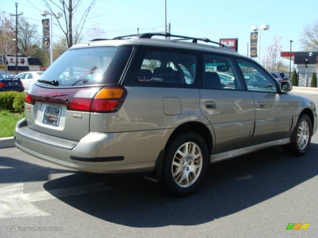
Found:
<svg viewBox="0 0 318 238"><path fill-rule="evenodd" d="M164 50L140 49L128 83L144 85L193 85L197 56Z"/></svg>

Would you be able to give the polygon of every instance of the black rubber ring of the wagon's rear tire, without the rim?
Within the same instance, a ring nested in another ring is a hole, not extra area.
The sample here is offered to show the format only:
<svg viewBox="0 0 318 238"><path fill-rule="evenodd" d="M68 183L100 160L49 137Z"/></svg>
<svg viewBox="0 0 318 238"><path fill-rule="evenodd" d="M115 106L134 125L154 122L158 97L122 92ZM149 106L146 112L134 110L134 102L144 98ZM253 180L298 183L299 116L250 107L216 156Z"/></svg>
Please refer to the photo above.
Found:
<svg viewBox="0 0 318 238"><path fill-rule="evenodd" d="M179 149L179 147L185 142L196 143L200 147L201 153L203 156L203 164L202 164L202 169L201 169L200 175L197 178L197 181L194 182L188 188L182 188L182 187L178 186L176 184L176 182L174 181L173 175L171 173L173 157L174 157L177 149ZM178 197L186 196L186 195L193 193L197 189L197 187L199 186L199 184L202 180L202 177L204 176L204 174L208 168L209 161L210 160L209 160L209 152L208 152L207 145L206 145L204 139L200 135L198 135L195 132L186 132L186 133L178 135L168 145L166 153L165 153L164 163L163 163L163 179L164 179L164 182L166 183L166 186L169 189L169 191L173 195L178 196Z"/></svg>

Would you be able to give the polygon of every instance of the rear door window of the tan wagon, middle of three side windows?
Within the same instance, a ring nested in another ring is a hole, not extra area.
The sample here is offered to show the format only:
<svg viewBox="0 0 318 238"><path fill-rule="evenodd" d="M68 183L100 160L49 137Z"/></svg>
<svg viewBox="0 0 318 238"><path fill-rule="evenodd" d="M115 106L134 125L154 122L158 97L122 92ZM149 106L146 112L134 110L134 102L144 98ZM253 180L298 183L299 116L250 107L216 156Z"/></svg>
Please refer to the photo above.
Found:
<svg viewBox="0 0 318 238"><path fill-rule="evenodd" d="M204 55L204 88L244 89L231 58Z"/></svg>

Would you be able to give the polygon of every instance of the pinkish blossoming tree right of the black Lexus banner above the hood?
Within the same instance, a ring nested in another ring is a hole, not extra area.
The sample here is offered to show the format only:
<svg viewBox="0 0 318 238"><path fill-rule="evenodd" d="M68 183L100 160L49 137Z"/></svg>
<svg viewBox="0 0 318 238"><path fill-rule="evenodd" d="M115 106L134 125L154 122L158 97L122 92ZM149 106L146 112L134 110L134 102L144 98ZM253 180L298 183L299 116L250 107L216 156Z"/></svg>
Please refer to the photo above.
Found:
<svg viewBox="0 0 318 238"><path fill-rule="evenodd" d="M283 48L280 43L281 39L281 36L274 36L274 43L266 48L266 53L263 57L263 66L267 70L277 71L278 66L282 64L280 59L280 51Z"/></svg>

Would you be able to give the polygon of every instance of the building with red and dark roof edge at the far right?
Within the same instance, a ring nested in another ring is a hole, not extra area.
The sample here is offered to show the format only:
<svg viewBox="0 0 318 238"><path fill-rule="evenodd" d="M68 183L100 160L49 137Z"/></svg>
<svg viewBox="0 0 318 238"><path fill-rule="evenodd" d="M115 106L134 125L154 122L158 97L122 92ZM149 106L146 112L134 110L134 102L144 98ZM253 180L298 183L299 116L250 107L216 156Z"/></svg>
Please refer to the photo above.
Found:
<svg viewBox="0 0 318 238"><path fill-rule="evenodd" d="M312 75L318 74L318 52L289 52L282 51L280 56L288 59L291 56L298 74L298 85L310 87Z"/></svg>

